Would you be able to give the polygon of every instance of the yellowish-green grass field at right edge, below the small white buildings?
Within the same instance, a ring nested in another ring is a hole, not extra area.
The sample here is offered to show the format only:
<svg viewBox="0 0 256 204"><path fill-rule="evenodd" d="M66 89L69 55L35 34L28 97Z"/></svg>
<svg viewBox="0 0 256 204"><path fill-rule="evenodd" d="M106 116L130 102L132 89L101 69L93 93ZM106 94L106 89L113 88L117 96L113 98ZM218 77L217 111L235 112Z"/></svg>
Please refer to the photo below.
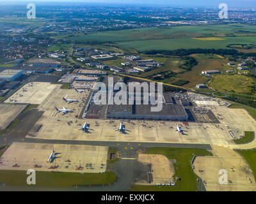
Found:
<svg viewBox="0 0 256 204"><path fill-rule="evenodd" d="M220 92L238 92L250 94L254 85L253 78L244 75L215 75L209 82L209 87Z"/></svg>

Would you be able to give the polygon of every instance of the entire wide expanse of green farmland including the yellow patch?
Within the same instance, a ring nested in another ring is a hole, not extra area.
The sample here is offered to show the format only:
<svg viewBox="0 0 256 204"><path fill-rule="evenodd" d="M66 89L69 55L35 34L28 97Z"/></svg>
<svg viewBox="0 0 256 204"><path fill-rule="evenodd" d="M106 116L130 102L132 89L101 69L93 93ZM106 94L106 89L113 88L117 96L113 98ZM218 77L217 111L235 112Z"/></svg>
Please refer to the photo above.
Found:
<svg viewBox="0 0 256 204"><path fill-rule="evenodd" d="M246 32L244 32L246 31ZM92 34L76 33L55 38L86 43L113 42L118 47L145 50L176 50L179 48L227 48L230 44L255 45L255 25L181 25L173 27L145 27Z"/></svg>

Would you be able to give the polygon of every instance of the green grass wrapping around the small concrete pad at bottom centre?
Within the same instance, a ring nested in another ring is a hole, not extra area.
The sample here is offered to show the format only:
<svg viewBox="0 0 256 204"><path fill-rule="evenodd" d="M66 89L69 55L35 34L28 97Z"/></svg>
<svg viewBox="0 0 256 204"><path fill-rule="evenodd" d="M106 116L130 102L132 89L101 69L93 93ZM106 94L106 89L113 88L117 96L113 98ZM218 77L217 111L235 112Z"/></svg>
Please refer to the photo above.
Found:
<svg viewBox="0 0 256 204"><path fill-rule="evenodd" d="M146 154L163 154L168 159L176 159L175 176L181 180L176 182L176 186L143 186L136 185L132 191L196 191L197 176L191 168L191 159L193 155L212 156L211 152L203 149L189 148L168 148L168 147L152 147L148 149Z"/></svg>

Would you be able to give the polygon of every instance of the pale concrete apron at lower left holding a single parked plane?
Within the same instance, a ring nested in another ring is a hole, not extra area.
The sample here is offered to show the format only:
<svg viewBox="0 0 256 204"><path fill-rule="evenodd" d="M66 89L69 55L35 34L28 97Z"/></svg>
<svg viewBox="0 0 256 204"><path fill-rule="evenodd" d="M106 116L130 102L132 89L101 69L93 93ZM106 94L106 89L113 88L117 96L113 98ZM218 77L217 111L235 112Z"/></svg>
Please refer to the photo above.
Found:
<svg viewBox="0 0 256 204"><path fill-rule="evenodd" d="M56 159L47 163L52 149ZM63 171L102 173L106 171L108 147L12 143L0 159L0 170Z"/></svg>

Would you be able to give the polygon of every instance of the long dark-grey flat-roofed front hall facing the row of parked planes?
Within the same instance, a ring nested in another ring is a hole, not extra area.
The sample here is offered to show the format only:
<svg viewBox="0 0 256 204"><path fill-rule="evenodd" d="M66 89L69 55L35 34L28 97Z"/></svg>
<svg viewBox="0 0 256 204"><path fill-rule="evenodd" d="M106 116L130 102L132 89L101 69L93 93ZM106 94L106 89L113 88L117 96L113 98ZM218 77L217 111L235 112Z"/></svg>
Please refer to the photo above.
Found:
<svg viewBox="0 0 256 204"><path fill-rule="evenodd" d="M163 103L163 109L160 112L152 112L152 106L153 105L108 105L107 117L114 119L188 121L188 114L182 105Z"/></svg>

